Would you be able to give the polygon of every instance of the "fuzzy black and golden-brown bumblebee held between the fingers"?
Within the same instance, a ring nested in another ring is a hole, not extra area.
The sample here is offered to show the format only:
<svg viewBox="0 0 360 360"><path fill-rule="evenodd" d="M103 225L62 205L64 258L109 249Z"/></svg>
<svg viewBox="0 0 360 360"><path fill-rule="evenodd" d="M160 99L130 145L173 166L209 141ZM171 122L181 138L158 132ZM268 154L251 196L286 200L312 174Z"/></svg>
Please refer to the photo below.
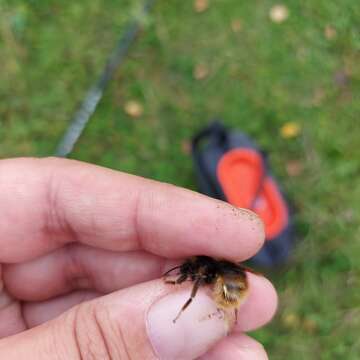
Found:
<svg viewBox="0 0 360 360"><path fill-rule="evenodd" d="M176 280L169 280L169 274L179 269ZM180 309L173 322L180 317L181 313L190 305L200 286L212 287L213 299L219 309L234 309L235 321L237 310L248 294L248 280L246 271L251 269L227 260L216 260L209 256L194 256L185 260L180 266L176 266L164 274L167 284L181 284L186 280L194 283L190 298Z"/></svg>

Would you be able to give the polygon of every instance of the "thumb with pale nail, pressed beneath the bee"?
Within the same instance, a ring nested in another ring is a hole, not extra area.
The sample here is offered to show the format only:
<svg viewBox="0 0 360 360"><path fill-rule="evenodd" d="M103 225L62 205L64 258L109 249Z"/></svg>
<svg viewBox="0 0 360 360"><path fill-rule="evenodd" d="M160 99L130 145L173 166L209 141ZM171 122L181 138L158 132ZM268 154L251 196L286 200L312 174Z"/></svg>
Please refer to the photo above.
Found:
<svg viewBox="0 0 360 360"><path fill-rule="evenodd" d="M176 323L190 289L161 280L75 306L0 341L0 359L194 359L226 336L228 323L201 289Z"/></svg>

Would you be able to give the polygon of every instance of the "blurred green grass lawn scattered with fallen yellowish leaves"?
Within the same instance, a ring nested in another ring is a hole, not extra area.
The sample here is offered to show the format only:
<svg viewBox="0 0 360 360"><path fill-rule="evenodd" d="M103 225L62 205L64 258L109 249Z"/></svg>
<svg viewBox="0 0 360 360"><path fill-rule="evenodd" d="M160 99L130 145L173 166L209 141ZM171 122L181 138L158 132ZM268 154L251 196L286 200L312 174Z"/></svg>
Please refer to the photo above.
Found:
<svg viewBox="0 0 360 360"><path fill-rule="evenodd" d="M0 0L0 157L54 153L140 4ZM360 358L359 18L357 0L158 0L71 154L196 189L189 139L214 116L268 152L299 238L266 274L271 359Z"/></svg>

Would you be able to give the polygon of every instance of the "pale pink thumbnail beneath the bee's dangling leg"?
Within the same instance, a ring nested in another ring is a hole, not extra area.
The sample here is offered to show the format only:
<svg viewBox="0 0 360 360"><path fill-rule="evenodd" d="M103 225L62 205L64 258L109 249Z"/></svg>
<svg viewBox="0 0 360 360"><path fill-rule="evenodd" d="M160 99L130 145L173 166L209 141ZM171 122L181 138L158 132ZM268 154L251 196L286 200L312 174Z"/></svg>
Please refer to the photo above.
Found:
<svg viewBox="0 0 360 360"><path fill-rule="evenodd" d="M226 317L202 291L174 323L189 296L189 291L169 294L148 312L148 336L159 359L197 358L228 333Z"/></svg>

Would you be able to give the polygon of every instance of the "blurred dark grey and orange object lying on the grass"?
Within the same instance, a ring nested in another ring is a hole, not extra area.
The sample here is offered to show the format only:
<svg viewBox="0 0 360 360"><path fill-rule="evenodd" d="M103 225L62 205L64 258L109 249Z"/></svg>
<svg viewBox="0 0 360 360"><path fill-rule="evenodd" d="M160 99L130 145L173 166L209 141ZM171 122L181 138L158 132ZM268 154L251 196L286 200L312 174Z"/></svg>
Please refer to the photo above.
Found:
<svg viewBox="0 0 360 360"><path fill-rule="evenodd" d="M192 139L192 156L200 192L263 220L266 241L250 262L267 268L285 264L293 244L291 216L266 154L245 134L214 121Z"/></svg>

